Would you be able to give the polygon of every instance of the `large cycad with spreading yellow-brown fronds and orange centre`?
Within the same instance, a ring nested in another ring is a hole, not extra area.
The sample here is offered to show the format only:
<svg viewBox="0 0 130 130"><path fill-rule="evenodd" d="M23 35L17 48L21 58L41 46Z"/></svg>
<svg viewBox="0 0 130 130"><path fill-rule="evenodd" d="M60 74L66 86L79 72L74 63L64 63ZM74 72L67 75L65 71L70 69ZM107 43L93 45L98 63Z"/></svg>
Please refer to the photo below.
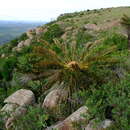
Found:
<svg viewBox="0 0 130 130"><path fill-rule="evenodd" d="M89 89L91 83L105 82L109 77L107 75L106 78L105 74L119 62L113 55L116 52L115 46L64 44L56 39L54 44L42 40L39 42L41 44L35 46L28 56L27 61L32 64L32 70L27 72L30 77L28 79L43 78L48 89L55 83L62 83L62 89L69 96L78 90Z"/></svg>

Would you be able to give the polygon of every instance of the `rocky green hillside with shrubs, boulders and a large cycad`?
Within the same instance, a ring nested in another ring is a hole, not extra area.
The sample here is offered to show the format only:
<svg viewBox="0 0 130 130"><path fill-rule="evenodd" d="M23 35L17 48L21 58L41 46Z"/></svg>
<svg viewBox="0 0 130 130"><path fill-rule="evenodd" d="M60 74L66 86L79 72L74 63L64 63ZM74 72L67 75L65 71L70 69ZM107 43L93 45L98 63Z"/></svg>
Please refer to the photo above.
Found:
<svg viewBox="0 0 130 130"><path fill-rule="evenodd" d="M130 7L62 14L0 46L0 128L129 130L124 14Z"/></svg>

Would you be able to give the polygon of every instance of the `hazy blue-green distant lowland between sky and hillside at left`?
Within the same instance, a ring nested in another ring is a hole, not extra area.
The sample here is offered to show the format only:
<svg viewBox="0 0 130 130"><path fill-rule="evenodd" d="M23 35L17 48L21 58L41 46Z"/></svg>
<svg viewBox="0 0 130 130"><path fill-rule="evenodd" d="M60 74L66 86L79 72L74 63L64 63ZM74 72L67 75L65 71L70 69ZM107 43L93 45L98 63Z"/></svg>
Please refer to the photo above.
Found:
<svg viewBox="0 0 130 130"><path fill-rule="evenodd" d="M4 21L0 20L0 44L6 43L29 29L43 25L46 22Z"/></svg>

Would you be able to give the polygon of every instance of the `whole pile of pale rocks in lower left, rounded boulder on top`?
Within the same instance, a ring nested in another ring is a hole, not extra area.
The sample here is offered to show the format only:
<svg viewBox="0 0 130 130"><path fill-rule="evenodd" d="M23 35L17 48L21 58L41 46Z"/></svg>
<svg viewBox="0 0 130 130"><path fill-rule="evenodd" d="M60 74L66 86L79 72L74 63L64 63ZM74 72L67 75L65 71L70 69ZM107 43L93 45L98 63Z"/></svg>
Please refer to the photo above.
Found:
<svg viewBox="0 0 130 130"><path fill-rule="evenodd" d="M35 103L35 96L32 91L20 89L5 99L6 105L1 109L1 112L6 112L10 117L5 117L5 127L9 129L13 125L13 121L17 117L24 115L27 112L26 106Z"/></svg>

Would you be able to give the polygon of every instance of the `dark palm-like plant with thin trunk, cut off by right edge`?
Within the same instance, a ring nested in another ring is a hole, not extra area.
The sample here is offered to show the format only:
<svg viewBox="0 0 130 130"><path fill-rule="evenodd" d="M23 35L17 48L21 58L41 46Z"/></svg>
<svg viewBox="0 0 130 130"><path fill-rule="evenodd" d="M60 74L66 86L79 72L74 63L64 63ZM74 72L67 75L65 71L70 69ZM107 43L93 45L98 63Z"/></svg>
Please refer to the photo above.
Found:
<svg viewBox="0 0 130 130"><path fill-rule="evenodd" d="M126 27L128 35L128 49L130 49L130 17L124 15L121 19L121 24Z"/></svg>

